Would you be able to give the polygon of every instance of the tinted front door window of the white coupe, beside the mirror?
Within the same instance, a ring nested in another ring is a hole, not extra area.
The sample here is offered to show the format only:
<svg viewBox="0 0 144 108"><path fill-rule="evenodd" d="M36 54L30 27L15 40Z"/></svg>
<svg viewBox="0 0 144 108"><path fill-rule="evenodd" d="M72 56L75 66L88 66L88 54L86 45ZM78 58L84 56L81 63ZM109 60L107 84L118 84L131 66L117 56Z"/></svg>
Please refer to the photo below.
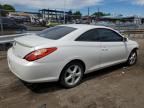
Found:
<svg viewBox="0 0 144 108"><path fill-rule="evenodd" d="M97 29L99 33L99 39L101 42L119 42L123 41L123 37L118 33L109 29Z"/></svg>

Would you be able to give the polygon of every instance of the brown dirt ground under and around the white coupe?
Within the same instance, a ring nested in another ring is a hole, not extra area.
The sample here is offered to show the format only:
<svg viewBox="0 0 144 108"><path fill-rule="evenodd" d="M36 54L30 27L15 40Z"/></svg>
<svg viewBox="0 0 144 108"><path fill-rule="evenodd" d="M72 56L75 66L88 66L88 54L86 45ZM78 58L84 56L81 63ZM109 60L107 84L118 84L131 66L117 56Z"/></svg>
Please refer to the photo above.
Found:
<svg viewBox="0 0 144 108"><path fill-rule="evenodd" d="M58 83L25 85L0 60L0 108L144 108L144 39L138 63L88 74L81 85L64 89Z"/></svg>

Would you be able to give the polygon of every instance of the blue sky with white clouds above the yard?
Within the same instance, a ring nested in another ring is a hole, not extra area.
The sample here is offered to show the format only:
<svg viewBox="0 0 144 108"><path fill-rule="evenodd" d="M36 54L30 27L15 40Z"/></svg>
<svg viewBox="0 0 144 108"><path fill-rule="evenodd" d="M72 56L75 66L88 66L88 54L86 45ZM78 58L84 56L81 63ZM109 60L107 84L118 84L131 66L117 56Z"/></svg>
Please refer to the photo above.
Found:
<svg viewBox="0 0 144 108"><path fill-rule="evenodd" d="M37 12L39 9L80 10L87 15L98 11L111 13L113 16L144 16L144 0L0 0L0 4L11 4L17 11Z"/></svg>

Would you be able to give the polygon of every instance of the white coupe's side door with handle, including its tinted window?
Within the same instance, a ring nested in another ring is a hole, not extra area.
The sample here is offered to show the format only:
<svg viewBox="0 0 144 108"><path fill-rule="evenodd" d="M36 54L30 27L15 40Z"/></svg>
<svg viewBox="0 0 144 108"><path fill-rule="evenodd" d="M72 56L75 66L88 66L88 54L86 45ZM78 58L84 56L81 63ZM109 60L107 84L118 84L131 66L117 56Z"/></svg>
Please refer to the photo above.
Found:
<svg viewBox="0 0 144 108"><path fill-rule="evenodd" d="M114 30L97 29L101 42L101 66L109 66L126 60L127 46L123 37Z"/></svg>

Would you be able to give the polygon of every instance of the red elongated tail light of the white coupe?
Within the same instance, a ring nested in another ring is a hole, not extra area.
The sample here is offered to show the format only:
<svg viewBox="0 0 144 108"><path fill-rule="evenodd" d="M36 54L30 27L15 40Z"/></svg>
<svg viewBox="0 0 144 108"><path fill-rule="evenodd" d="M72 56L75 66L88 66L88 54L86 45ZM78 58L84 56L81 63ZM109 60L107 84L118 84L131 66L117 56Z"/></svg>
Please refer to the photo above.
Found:
<svg viewBox="0 0 144 108"><path fill-rule="evenodd" d="M51 54L52 52L54 52L56 50L57 50L56 47L39 49L39 50L33 51L33 52L29 53L28 55L26 55L24 57L24 59L26 59L27 61L35 61L37 59L43 58L43 57Z"/></svg>

